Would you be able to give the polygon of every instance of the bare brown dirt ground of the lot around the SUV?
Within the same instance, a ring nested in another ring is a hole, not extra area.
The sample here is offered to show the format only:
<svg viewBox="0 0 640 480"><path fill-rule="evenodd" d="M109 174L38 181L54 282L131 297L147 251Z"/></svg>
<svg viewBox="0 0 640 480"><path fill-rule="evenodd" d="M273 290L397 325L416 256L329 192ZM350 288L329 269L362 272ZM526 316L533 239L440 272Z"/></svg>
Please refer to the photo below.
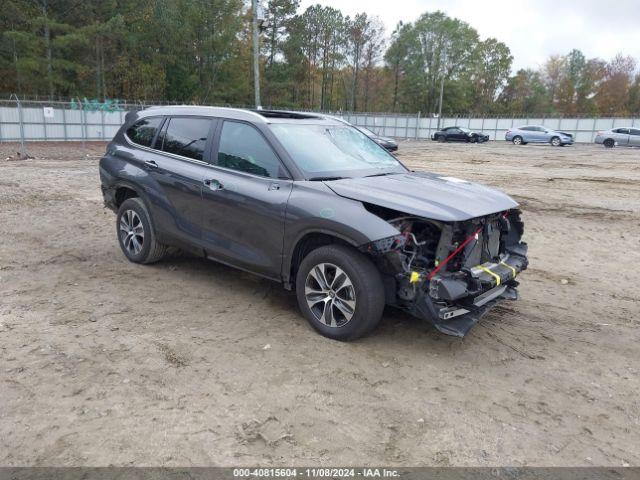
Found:
<svg viewBox="0 0 640 480"><path fill-rule="evenodd" d="M267 280L127 262L104 145L28 148L0 144L0 465L640 465L640 149L402 142L521 203L522 298L339 343Z"/></svg>

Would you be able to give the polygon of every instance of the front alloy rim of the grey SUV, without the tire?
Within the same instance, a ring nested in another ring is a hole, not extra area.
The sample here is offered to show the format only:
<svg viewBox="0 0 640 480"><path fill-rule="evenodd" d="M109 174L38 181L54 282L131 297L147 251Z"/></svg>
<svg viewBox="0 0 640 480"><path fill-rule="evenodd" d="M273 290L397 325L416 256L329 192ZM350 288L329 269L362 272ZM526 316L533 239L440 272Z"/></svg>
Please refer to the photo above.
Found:
<svg viewBox="0 0 640 480"><path fill-rule="evenodd" d="M346 325L356 311L353 282L344 270L331 263L321 263L309 271L304 295L316 320L328 327Z"/></svg>

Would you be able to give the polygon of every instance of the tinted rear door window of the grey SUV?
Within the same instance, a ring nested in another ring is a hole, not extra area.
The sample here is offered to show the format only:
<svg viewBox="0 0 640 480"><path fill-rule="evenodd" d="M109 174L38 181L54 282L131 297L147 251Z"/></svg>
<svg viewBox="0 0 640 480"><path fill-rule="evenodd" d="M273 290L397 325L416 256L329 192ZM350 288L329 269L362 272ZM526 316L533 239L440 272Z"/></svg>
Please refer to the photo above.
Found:
<svg viewBox="0 0 640 480"><path fill-rule="evenodd" d="M211 120L173 117L167 123L158 137L158 148L168 153L202 160Z"/></svg>

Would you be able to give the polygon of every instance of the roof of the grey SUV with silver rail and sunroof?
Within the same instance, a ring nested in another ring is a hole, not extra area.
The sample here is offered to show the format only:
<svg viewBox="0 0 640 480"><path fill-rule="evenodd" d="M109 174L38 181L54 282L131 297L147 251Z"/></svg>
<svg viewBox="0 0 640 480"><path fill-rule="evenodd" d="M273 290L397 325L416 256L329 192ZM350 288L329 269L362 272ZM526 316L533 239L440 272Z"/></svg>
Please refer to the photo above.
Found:
<svg viewBox="0 0 640 480"><path fill-rule="evenodd" d="M259 110L228 107L205 107L197 105L153 106L141 110L138 118L156 115L201 115L253 123L305 123L305 124L347 124L344 120L325 114L292 112L288 110Z"/></svg>

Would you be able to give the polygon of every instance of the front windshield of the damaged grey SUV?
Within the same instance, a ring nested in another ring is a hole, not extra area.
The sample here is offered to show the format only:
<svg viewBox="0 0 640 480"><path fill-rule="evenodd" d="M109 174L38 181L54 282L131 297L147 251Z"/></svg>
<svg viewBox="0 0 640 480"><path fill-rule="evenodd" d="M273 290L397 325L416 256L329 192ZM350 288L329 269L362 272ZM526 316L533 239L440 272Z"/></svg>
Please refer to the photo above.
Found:
<svg viewBox="0 0 640 480"><path fill-rule="evenodd" d="M309 179L407 171L384 148L348 125L276 123L271 130Z"/></svg>

